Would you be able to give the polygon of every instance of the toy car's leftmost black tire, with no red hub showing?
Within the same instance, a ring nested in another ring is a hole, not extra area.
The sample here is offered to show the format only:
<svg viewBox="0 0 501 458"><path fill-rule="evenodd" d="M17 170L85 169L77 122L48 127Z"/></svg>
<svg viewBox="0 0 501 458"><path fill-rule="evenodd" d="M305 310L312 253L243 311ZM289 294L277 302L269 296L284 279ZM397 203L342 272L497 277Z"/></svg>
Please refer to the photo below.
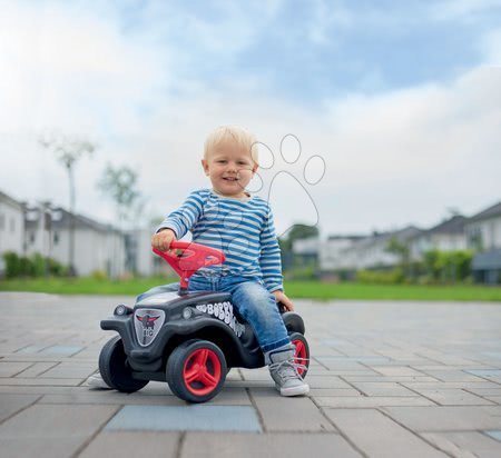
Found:
<svg viewBox="0 0 501 458"><path fill-rule="evenodd" d="M99 372L102 380L118 391L134 392L148 385L148 380L132 378L120 336L115 336L102 347L99 354Z"/></svg>

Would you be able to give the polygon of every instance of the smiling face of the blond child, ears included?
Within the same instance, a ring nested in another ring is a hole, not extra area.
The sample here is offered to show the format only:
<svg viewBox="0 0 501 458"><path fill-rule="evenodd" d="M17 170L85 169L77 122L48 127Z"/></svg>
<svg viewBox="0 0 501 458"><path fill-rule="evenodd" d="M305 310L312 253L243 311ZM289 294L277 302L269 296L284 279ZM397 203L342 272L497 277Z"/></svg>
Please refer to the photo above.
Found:
<svg viewBox="0 0 501 458"><path fill-rule="evenodd" d="M245 188L257 170L250 151L232 140L216 145L202 160L202 166L214 190L226 197L244 197Z"/></svg>

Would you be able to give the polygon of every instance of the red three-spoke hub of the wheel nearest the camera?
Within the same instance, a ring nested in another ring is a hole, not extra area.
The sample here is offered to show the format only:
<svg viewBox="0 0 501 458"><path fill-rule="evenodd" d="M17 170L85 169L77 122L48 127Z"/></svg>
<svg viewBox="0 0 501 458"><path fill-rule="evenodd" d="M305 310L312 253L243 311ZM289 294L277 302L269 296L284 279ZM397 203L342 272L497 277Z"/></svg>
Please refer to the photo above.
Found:
<svg viewBox="0 0 501 458"><path fill-rule="evenodd" d="M186 388L196 396L213 391L220 380L220 361L208 348L198 348L186 359L183 368Z"/></svg>

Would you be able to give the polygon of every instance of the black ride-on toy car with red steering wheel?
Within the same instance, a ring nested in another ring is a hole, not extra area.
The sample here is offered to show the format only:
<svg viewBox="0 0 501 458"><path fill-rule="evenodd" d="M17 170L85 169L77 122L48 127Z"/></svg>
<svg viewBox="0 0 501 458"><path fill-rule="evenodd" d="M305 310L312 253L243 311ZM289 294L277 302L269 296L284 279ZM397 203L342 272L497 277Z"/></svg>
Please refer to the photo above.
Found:
<svg viewBox="0 0 501 458"><path fill-rule="evenodd" d="M119 391L137 391L149 380L167 381L180 399L205 402L219 392L232 367L263 367L263 351L230 293L188 292L189 277L202 267L222 263L222 251L183 241L174 241L169 251L154 251L180 276L179 291L145 297L134 309L118 305L114 316L101 321L101 329L119 336L104 346L99 370ZM310 349L303 319L281 312L304 378Z"/></svg>

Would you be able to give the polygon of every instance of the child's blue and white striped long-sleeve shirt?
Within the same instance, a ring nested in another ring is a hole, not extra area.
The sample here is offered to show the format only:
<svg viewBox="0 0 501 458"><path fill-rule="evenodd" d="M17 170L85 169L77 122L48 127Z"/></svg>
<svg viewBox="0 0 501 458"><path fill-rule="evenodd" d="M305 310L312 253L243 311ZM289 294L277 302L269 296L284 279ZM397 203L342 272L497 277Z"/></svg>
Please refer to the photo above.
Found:
<svg viewBox="0 0 501 458"><path fill-rule="evenodd" d="M269 205L259 197L239 200L200 189L191 192L181 207L166 217L158 230L163 228L171 229L177 239L190 231L194 242L222 250L226 257L218 267L222 275L258 278L268 291L283 290L281 250L273 213Z"/></svg>

